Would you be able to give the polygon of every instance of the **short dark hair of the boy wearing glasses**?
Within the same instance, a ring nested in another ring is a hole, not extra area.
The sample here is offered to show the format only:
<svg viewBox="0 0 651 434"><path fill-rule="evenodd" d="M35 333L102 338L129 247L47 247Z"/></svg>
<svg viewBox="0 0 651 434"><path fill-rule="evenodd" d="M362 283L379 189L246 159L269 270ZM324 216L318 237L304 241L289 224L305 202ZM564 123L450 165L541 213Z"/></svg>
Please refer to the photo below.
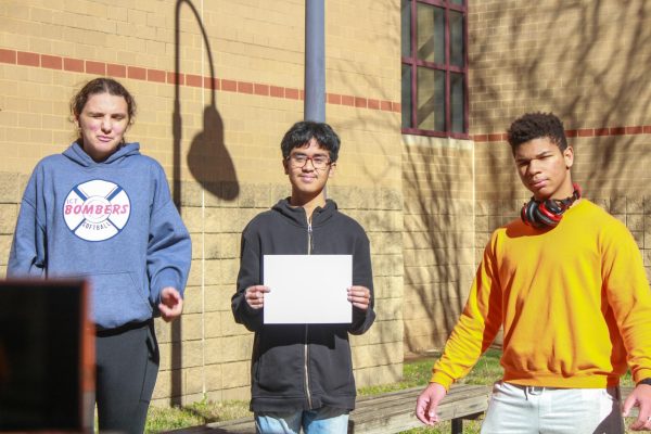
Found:
<svg viewBox="0 0 651 434"><path fill-rule="evenodd" d="M327 150L330 154L330 161L336 162L341 140L332 127L326 123L314 120L297 122L285 132L280 142L282 157L288 158L294 148L299 148L315 139L319 146Z"/></svg>

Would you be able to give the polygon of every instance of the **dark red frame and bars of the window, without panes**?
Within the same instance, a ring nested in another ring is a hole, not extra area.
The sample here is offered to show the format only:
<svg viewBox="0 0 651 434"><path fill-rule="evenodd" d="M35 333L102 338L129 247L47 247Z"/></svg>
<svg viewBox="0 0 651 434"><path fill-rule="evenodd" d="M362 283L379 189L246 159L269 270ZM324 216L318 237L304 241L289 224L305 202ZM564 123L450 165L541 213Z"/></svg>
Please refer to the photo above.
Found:
<svg viewBox="0 0 651 434"><path fill-rule="evenodd" d="M417 8L418 3L429 4L438 7L445 10L445 63L434 63L422 61L418 59L417 53L417 35L418 35L418 23L417 23ZM468 0L463 0L463 4L455 4L451 0L411 0L411 41L410 56L403 56L401 64L411 66L411 104L407 105L403 102L403 111L411 111L411 123L409 128L401 128L405 135L417 135L417 136L432 136L432 137L451 137L458 139L470 139L469 125L468 125L468 112L469 112L469 98L468 98ZM460 12L463 16L463 66L450 65L450 26L449 26L449 11ZM445 130L427 130L420 129L418 125L418 67L426 67L430 69L442 71L445 73ZM463 131L452 132L451 130L451 105L450 105L450 73L457 73L463 75Z"/></svg>

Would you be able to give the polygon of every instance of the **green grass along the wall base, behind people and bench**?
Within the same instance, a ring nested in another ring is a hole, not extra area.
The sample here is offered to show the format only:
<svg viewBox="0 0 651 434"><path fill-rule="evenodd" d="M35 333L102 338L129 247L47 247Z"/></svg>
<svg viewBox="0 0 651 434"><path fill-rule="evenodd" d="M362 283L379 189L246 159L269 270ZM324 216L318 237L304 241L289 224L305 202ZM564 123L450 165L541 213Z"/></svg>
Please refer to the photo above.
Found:
<svg viewBox="0 0 651 434"><path fill-rule="evenodd" d="M472 371L460 383L490 385L502 375L502 369L499 365L501 352L488 349L478 360ZM403 370L403 381L398 383L384 384L378 386L361 387L359 395L374 395L384 392L399 391L403 388L426 385L430 381L432 365L437 355L433 357L405 361ZM623 385L631 385L630 375L622 379ZM416 406L416 403L413 403ZM175 408L150 408L145 433L158 433L161 431L177 430L188 426L204 425L210 422L217 422L229 419L238 419L251 416L247 401L225 401L212 403L202 400L191 404L187 407ZM633 420L627 420L630 424ZM480 421L463 421L463 433L476 434L480 432ZM629 432L628 430L626 431ZM404 434L448 434L450 433L450 422L443 422L435 427L425 427L409 430Z"/></svg>

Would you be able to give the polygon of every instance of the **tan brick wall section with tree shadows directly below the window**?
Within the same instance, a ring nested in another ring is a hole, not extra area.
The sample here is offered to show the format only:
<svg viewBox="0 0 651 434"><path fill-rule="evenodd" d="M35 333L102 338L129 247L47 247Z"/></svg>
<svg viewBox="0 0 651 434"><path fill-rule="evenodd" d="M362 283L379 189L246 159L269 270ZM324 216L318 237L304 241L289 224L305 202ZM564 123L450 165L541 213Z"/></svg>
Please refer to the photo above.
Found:
<svg viewBox="0 0 651 434"><path fill-rule="evenodd" d="M405 352L439 348L474 275L473 143L404 137Z"/></svg>

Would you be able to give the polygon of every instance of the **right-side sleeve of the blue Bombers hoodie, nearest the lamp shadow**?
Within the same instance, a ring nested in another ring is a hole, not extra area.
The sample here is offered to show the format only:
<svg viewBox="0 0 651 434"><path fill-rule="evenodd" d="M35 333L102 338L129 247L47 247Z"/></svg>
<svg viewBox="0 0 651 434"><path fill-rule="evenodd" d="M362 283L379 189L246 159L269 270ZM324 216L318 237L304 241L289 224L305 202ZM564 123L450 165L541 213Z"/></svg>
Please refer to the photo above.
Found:
<svg viewBox="0 0 651 434"><path fill-rule="evenodd" d="M146 252L150 301L154 306L161 303L161 291L166 286L183 295L191 260L190 234L171 201L163 169L158 168Z"/></svg>

